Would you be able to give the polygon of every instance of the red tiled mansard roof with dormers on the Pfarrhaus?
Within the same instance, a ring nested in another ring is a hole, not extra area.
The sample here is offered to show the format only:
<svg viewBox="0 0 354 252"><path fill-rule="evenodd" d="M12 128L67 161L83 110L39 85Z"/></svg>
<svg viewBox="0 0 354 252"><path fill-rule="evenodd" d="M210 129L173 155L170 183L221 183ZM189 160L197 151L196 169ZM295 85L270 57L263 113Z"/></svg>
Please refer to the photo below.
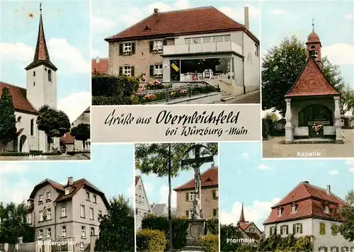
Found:
<svg viewBox="0 0 354 252"><path fill-rule="evenodd" d="M297 205L297 211L292 212L292 203ZM329 214L324 212L325 205L329 206ZM299 219L304 217L322 217L336 219L336 209L338 205L346 205L333 193L326 193L326 190L310 185L308 182L302 182L288 193L278 204L272 207L268 219L264 224L275 222L285 222L290 219ZM278 208L282 208L282 214L278 216Z"/></svg>

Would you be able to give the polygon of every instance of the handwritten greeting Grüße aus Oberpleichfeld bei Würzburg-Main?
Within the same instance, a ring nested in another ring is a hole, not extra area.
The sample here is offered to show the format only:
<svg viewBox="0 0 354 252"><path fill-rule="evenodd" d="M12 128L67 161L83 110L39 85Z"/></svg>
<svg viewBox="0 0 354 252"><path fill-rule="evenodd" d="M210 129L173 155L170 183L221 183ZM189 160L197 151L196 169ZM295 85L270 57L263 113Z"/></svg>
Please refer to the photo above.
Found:
<svg viewBox="0 0 354 252"><path fill-rule="evenodd" d="M190 115L178 115L169 110L161 110L156 118L135 117L132 113L116 113L115 109L105 118L105 125L149 125L154 122L156 125L166 125L165 136L181 135L183 137L200 135L216 135L221 137L223 134L241 135L248 134L244 126L237 127L240 112L222 110L219 113L215 111L195 111ZM229 125L227 129L224 125Z"/></svg>

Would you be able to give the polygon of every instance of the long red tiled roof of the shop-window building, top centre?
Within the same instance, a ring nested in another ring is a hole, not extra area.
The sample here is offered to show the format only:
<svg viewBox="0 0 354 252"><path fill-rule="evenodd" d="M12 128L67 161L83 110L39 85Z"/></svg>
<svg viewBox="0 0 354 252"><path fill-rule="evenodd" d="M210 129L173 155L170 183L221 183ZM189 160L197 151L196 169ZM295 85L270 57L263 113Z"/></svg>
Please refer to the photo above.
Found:
<svg viewBox="0 0 354 252"><path fill-rule="evenodd" d="M154 13L121 33L105 38L105 40L166 38L176 35L232 30L244 30L259 45L259 40L249 32L246 26L237 23L212 6Z"/></svg>

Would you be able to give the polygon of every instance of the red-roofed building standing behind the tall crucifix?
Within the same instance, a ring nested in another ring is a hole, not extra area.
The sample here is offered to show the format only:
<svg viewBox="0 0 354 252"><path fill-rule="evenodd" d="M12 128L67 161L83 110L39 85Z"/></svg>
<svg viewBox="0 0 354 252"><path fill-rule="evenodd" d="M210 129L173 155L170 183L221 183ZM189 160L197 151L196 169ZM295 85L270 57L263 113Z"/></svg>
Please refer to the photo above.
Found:
<svg viewBox="0 0 354 252"><path fill-rule="evenodd" d="M219 216L219 181L218 168L212 167L200 174L201 190L200 205L205 219L211 219ZM195 181L190 180L187 183L174 188L176 192L176 215L178 217L192 217L193 200L195 197Z"/></svg>

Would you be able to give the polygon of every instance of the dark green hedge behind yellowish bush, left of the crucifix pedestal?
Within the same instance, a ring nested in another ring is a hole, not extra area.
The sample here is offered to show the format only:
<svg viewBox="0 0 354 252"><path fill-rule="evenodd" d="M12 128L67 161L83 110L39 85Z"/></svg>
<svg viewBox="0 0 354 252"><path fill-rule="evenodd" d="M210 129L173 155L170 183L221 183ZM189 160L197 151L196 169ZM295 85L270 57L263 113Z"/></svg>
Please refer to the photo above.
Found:
<svg viewBox="0 0 354 252"><path fill-rule="evenodd" d="M169 249L169 219L154 214L147 214L142 219L142 229L164 231ZM172 217L172 244L173 248L180 249L187 245L188 221L185 218Z"/></svg>

